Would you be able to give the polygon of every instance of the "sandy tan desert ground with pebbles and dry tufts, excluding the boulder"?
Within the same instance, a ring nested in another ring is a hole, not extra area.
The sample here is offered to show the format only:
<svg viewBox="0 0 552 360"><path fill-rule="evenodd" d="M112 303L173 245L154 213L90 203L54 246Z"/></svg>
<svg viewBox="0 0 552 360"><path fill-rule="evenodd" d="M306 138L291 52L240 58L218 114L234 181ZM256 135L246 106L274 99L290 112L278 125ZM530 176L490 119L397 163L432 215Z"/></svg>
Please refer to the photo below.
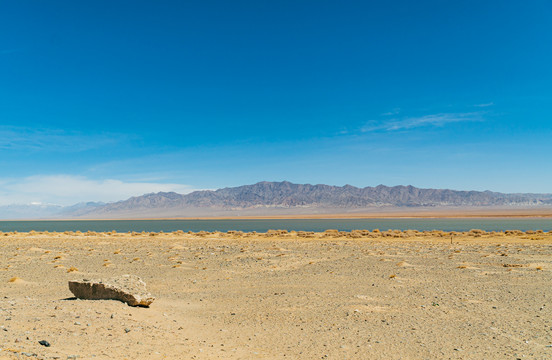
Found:
<svg viewBox="0 0 552 360"><path fill-rule="evenodd" d="M552 233L30 232L0 247L0 359L552 359ZM149 308L67 285L122 274Z"/></svg>

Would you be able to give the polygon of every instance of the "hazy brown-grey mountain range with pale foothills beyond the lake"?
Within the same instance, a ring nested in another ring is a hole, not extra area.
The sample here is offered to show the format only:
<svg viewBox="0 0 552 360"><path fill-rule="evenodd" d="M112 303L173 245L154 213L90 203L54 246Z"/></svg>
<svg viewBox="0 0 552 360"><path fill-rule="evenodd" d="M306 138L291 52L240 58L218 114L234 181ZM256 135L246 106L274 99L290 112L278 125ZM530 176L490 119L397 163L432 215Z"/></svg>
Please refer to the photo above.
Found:
<svg viewBox="0 0 552 360"><path fill-rule="evenodd" d="M151 193L109 204L89 202L68 207L42 204L2 206L0 217L116 219L324 214L405 208L550 206L552 194L503 194L384 185L358 188L351 185L264 181L214 191L195 191L186 195L174 192Z"/></svg>

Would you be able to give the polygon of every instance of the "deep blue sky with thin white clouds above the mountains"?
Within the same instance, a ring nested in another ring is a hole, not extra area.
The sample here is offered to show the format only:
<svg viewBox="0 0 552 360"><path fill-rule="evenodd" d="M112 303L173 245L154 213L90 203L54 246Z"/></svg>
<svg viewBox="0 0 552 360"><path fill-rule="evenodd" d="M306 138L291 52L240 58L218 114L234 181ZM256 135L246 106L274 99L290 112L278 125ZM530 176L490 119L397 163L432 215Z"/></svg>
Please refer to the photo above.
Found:
<svg viewBox="0 0 552 360"><path fill-rule="evenodd" d="M0 204L552 192L550 1L0 0Z"/></svg>

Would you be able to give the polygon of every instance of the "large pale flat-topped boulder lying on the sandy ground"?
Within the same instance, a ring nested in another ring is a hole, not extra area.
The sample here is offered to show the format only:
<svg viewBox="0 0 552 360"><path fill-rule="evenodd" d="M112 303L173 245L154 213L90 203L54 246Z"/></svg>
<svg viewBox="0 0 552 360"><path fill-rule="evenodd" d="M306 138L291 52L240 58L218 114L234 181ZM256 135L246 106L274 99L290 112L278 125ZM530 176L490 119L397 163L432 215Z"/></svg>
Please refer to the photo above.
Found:
<svg viewBox="0 0 552 360"><path fill-rule="evenodd" d="M155 298L147 292L146 283L136 275L110 279L72 280L69 290L79 299L119 300L130 306L148 307Z"/></svg>

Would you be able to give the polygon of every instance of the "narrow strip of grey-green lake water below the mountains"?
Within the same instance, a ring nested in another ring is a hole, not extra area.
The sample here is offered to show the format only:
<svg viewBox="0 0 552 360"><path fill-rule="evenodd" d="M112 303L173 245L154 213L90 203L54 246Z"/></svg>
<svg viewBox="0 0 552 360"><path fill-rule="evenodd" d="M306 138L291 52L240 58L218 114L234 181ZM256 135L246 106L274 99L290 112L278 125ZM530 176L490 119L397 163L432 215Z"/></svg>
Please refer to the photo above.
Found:
<svg viewBox="0 0 552 360"><path fill-rule="evenodd" d="M552 219L270 219L270 220L75 220L75 221L0 221L0 231L257 231L269 229L324 231L365 230L443 230L552 231Z"/></svg>

